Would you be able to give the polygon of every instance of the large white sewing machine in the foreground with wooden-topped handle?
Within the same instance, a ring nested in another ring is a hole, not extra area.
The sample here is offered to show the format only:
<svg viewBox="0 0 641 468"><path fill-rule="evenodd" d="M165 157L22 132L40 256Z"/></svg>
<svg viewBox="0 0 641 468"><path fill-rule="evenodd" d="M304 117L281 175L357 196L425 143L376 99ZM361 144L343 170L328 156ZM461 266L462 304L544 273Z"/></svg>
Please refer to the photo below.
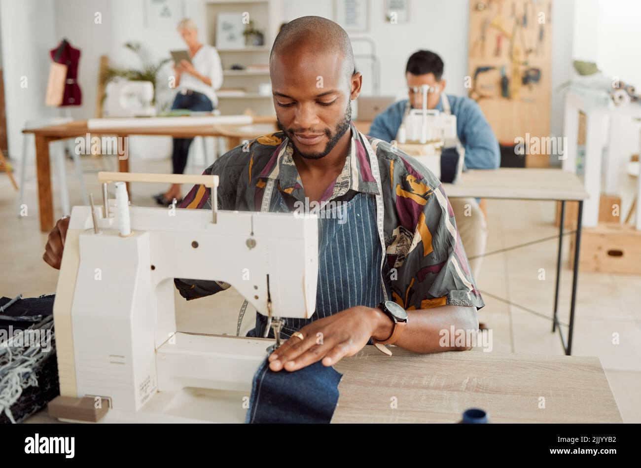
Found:
<svg viewBox="0 0 641 468"><path fill-rule="evenodd" d="M81 419L74 405L90 397L109 406L101 421L244 421L274 340L176 330L173 279L225 281L274 326L309 318L315 217L129 206L123 182L116 200L106 196L110 181L149 181L201 184L215 200L217 176L100 172L99 181L103 206L74 206L65 240L54 322L67 398L53 416Z"/></svg>

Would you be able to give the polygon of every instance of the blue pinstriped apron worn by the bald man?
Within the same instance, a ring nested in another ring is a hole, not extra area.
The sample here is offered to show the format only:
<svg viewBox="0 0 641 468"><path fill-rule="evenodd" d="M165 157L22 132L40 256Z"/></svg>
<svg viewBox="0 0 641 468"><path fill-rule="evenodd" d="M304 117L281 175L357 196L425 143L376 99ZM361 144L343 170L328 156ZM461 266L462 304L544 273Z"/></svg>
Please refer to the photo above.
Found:
<svg viewBox="0 0 641 468"><path fill-rule="evenodd" d="M274 202L270 211L290 211L278 191ZM283 338L317 319L354 306L376 307L384 300L380 274L383 253L375 213L374 196L358 192L350 201L320 215L316 311L310 319L285 319ZM256 331L262 336L265 326L267 317L256 313L256 328L247 336L256 336ZM274 337L272 330L269 337Z"/></svg>

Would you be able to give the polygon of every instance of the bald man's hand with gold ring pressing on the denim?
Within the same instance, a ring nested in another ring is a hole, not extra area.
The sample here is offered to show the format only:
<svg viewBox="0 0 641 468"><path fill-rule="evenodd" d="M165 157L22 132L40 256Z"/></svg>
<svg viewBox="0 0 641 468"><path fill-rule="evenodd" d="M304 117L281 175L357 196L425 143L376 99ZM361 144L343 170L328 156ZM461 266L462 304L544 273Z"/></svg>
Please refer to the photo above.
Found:
<svg viewBox="0 0 641 468"><path fill-rule="evenodd" d="M363 349L369 338L385 340L392 321L381 310L356 306L313 321L299 330L304 339L291 337L269 356L272 371L297 371L322 360L334 365Z"/></svg>

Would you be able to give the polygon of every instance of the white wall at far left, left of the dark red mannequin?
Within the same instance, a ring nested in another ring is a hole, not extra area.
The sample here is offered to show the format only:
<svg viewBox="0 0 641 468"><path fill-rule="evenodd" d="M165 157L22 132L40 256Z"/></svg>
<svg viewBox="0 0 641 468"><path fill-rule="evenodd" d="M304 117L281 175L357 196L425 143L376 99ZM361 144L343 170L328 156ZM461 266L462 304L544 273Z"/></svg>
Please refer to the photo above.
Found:
<svg viewBox="0 0 641 468"><path fill-rule="evenodd" d="M0 12L8 149L10 156L19 157L24 122L58 115L57 109L44 105L49 50L57 44L51 21L54 2L1 0Z"/></svg>

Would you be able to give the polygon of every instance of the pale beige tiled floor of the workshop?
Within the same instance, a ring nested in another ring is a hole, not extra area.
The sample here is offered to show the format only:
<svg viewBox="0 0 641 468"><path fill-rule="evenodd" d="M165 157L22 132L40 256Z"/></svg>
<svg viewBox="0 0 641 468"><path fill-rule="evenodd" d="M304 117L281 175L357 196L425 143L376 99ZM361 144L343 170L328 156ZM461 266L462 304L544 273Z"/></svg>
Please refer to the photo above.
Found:
<svg viewBox="0 0 641 468"><path fill-rule="evenodd" d="M71 163L68 173L73 174ZM85 181L99 197L95 172L103 166L85 158ZM132 155L131 171L167 172L168 161L145 162ZM190 168L198 172L199 168ZM0 244L4 246L0 269L0 294L36 296L53 292L58 272L42 261L46 234L38 230L38 207L33 163L30 164L24 203L26 217L17 217L17 193L0 173ZM58 203L58 184L54 178ZM78 182L70 177L71 203L81 204ZM153 205L149 195L162 185L133 185L133 201ZM187 190L187 187L185 187ZM186 193L186 192L185 192ZM60 217L59 206L56 218ZM554 204L531 201L488 201L490 237L488 252L556 234ZM558 334L551 333L551 311L555 280L556 240L487 256L478 286L485 293L485 308L479 318L493 332L495 351L561 355ZM564 242L565 253L569 239ZM539 279L544 269L544 279ZM569 320L572 272L564 255L560 321ZM178 321L198 324L197 331L236 333L242 298L235 291L185 302L176 294ZM524 310L521 307L529 310ZM215 311L215 312L214 312ZM247 312L242 331L253 327L253 312ZM180 326L179 326L180 328ZM181 329L183 331L188 331ZM567 328L564 328L567 331ZM614 335L614 334L618 335ZM613 336L619 344L613 344ZM641 422L641 276L581 272L574 330L574 355L598 356L625 422Z"/></svg>

